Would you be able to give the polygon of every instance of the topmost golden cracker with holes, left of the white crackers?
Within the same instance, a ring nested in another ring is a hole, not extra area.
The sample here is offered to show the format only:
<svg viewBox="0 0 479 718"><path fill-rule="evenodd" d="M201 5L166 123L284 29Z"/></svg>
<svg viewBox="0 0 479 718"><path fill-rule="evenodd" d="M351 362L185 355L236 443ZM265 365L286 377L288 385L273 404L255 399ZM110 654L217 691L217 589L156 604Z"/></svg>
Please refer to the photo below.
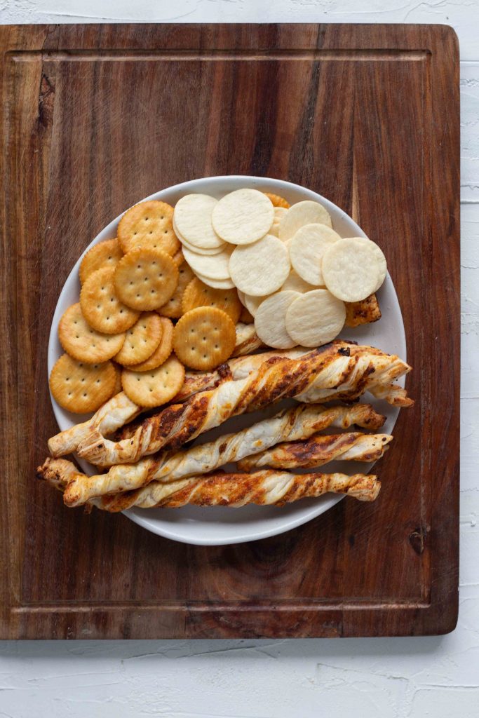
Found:
<svg viewBox="0 0 479 718"><path fill-rule="evenodd" d="M180 240L173 229L172 206L148 200L126 210L118 223L118 242L125 253L141 246L174 255L180 249Z"/></svg>

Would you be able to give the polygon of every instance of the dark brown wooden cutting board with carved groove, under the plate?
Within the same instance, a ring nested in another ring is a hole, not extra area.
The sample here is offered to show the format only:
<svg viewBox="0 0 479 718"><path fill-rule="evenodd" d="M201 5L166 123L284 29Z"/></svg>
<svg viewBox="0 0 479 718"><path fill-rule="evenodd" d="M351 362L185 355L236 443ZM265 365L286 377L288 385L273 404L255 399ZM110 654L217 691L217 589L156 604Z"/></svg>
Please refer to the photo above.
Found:
<svg viewBox="0 0 479 718"><path fill-rule="evenodd" d="M446 633L457 617L459 58L427 25L1 27L0 638ZM176 182L310 187L386 252L407 380L372 505L238 546L68 510L47 339L83 248Z"/></svg>

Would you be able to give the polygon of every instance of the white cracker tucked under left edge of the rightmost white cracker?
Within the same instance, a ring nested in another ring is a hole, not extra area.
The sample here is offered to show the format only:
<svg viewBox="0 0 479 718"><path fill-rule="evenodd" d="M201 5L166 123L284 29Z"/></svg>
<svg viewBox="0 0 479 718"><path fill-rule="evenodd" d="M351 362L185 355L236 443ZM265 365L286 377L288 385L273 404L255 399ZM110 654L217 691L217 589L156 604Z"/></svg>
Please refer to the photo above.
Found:
<svg viewBox="0 0 479 718"><path fill-rule="evenodd" d="M321 263L326 249L338 241L338 232L327 225L304 225L289 241L289 258L297 274L309 282L320 286L322 280Z"/></svg>

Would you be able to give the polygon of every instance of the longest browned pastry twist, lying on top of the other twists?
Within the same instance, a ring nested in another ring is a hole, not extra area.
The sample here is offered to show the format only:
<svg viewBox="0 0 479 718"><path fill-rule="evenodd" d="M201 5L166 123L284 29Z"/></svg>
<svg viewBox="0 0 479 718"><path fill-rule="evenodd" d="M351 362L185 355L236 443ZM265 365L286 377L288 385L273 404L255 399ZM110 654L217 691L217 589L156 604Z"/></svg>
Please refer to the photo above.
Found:
<svg viewBox="0 0 479 718"><path fill-rule="evenodd" d="M244 379L225 381L200 391L131 426L113 442L94 429L78 446L78 454L96 466L133 463L159 449L182 444L223 424L231 416L294 397L299 401L353 399L368 388L391 383L410 370L394 355L370 347L338 350L335 342L297 359L274 357ZM409 400L408 400L409 401Z"/></svg>

